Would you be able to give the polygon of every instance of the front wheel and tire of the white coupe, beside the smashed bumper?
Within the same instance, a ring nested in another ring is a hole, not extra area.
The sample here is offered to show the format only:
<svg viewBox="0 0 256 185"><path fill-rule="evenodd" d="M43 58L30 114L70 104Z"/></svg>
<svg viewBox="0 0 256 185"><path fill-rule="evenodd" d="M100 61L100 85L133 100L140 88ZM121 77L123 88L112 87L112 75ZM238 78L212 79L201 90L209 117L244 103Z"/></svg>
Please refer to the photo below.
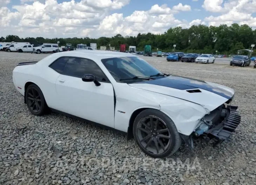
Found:
<svg viewBox="0 0 256 185"><path fill-rule="evenodd" d="M181 137L173 120L155 109L146 109L138 114L133 124L137 145L147 155L166 158L181 146Z"/></svg>

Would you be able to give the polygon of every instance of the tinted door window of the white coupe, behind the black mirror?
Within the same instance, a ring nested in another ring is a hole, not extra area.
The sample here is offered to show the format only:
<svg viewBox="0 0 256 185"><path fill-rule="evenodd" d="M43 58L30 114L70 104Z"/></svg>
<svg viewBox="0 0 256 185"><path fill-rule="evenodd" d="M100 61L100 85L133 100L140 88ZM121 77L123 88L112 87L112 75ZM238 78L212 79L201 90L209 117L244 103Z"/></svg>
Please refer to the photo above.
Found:
<svg viewBox="0 0 256 185"><path fill-rule="evenodd" d="M93 74L99 81L109 81L100 67L92 60L69 57L63 70L64 75L81 78L85 74Z"/></svg>

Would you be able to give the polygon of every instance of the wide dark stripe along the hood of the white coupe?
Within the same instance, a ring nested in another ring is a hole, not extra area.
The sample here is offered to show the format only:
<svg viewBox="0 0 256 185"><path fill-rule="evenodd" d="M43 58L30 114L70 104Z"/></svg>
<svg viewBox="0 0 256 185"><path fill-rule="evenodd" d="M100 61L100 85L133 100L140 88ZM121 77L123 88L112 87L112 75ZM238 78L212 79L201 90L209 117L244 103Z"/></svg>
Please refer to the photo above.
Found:
<svg viewBox="0 0 256 185"><path fill-rule="evenodd" d="M199 89L207 90L209 92L213 92L227 99L230 99L233 96L231 92L212 86L206 83L205 81L191 79L187 77L181 77L181 76L167 76L167 77L162 77L156 80L149 80L149 81L143 81L143 82L137 82L137 83L148 83L148 84L153 84L157 86L170 87L170 88L180 89L180 90L190 90L190 89L199 88Z"/></svg>

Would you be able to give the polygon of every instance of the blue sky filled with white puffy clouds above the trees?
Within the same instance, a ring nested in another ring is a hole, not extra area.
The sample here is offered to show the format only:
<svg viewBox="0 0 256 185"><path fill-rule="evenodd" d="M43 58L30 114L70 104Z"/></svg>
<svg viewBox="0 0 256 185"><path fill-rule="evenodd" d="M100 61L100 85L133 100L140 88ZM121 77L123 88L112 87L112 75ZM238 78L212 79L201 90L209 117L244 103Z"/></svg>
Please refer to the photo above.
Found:
<svg viewBox="0 0 256 185"><path fill-rule="evenodd" d="M256 29L256 0L0 0L0 37L136 36L232 23Z"/></svg>

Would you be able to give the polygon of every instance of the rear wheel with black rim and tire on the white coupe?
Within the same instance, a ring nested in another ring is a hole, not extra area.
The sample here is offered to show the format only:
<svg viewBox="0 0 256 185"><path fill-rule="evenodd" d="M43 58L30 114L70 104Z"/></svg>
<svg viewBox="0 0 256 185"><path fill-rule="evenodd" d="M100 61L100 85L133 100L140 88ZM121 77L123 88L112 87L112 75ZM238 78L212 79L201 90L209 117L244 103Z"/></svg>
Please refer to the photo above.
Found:
<svg viewBox="0 0 256 185"><path fill-rule="evenodd" d="M42 116L47 113L48 106L41 89L35 84L30 84L25 94L28 110L35 116Z"/></svg>

